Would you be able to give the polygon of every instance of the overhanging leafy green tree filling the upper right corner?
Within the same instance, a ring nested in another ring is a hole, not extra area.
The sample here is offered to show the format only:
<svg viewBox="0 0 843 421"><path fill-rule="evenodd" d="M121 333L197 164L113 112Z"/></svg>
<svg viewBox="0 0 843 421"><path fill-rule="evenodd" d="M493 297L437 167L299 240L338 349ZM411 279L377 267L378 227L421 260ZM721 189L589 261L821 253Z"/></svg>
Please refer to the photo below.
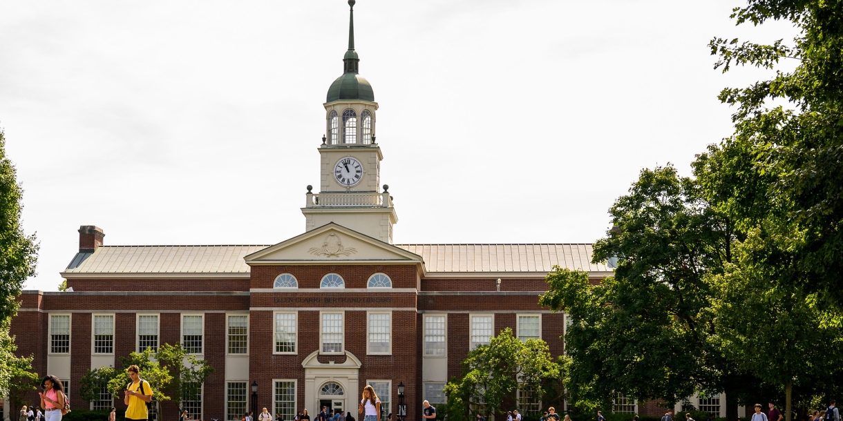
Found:
<svg viewBox="0 0 843 421"><path fill-rule="evenodd" d="M737 24L789 20L799 29L792 43L771 45L715 38L715 67L734 65L776 69L797 60L790 72L746 88L726 88L723 103L733 104L735 132L726 147L752 152L748 174L770 175L771 204L790 234L777 253L760 253L771 265L789 261L790 275L769 280L782 287L817 292L843 305L843 2L840 0L749 0L732 14ZM787 107L778 104L787 103ZM737 168L735 174L742 174ZM777 261L778 260L778 261ZM758 262L759 264L762 262Z"/></svg>

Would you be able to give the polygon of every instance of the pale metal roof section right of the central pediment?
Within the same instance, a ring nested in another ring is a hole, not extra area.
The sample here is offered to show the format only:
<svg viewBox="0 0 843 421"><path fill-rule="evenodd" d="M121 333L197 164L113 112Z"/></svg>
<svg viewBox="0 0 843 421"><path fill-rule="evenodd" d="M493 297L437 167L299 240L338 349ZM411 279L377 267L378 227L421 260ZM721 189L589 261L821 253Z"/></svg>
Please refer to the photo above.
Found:
<svg viewBox="0 0 843 421"><path fill-rule="evenodd" d="M592 264L592 244L395 244L424 258L427 272L611 271Z"/></svg>

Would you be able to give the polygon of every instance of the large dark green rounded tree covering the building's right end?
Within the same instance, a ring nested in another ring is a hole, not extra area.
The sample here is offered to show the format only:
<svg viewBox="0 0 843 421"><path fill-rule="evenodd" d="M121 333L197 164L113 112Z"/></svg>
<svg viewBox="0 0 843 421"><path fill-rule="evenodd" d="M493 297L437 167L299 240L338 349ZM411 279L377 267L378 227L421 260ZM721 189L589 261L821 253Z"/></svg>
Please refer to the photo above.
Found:
<svg viewBox="0 0 843 421"><path fill-rule="evenodd" d="M593 261L616 258L615 276L592 285L582 271L548 274L539 304L572 321L566 385L578 405L610 408L615 393L673 403L725 391L727 418L738 416L748 374L712 340L707 279L722 273L741 237L717 194L735 186L709 171L727 157L712 150L703 158L695 178L671 166L642 170L609 209L614 227L595 244Z"/></svg>

